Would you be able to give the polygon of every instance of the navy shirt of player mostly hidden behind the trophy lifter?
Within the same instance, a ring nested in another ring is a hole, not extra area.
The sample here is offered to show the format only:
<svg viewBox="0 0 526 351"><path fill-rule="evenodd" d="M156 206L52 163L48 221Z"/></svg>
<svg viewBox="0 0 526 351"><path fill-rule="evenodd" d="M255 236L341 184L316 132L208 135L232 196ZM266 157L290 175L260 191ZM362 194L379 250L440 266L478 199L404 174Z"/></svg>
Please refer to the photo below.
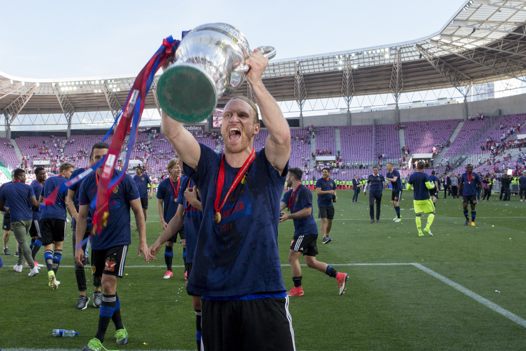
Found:
<svg viewBox="0 0 526 351"><path fill-rule="evenodd" d="M193 188L194 185L194 181L190 179L190 177L184 177L183 180L181 180L181 191L177 197L177 203L180 206L184 206L183 208L185 210L186 262L188 263L194 262L197 235L199 234L201 222L203 222L203 212L186 203L185 189ZM201 200L201 196L199 196L199 190L197 190L197 199L199 201Z"/></svg>

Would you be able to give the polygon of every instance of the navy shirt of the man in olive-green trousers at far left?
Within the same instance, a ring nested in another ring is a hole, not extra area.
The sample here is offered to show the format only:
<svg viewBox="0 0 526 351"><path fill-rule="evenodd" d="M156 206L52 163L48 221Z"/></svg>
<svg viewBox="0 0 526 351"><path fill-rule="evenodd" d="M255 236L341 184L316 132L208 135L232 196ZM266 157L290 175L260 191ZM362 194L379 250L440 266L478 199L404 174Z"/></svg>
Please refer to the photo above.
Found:
<svg viewBox="0 0 526 351"><path fill-rule="evenodd" d="M9 200L11 222L15 222L16 220L33 219L31 200L29 200L29 197L31 196L35 196L33 188L25 183L19 182L18 180L7 184L0 191L0 200Z"/></svg>

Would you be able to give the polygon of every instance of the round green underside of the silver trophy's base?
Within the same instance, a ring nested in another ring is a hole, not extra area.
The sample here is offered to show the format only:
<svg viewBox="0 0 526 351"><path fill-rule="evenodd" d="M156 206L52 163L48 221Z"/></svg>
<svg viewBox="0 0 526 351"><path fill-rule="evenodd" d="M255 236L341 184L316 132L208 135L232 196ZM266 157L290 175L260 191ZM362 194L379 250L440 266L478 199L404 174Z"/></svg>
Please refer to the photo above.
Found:
<svg viewBox="0 0 526 351"><path fill-rule="evenodd" d="M163 111L183 123L199 123L210 117L217 103L211 77L197 66L176 65L160 76L157 99Z"/></svg>

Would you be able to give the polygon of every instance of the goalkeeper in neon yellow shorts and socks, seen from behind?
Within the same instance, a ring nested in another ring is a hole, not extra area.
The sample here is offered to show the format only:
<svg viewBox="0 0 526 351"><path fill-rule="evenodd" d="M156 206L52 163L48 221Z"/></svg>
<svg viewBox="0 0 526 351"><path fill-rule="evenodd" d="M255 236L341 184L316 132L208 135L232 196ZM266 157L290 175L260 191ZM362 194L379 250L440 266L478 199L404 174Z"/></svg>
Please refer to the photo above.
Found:
<svg viewBox="0 0 526 351"><path fill-rule="evenodd" d="M416 214L414 220L417 223L418 236L423 236L424 233L433 236L431 233L431 224L433 224L435 211L431 196L429 196L429 189L433 189L435 185L429 181L427 173L423 172L424 166L426 166L426 163L423 161L417 163L417 172L414 172L409 177L407 188L413 190L413 206L414 213ZM422 213L429 213L423 233L421 219Z"/></svg>

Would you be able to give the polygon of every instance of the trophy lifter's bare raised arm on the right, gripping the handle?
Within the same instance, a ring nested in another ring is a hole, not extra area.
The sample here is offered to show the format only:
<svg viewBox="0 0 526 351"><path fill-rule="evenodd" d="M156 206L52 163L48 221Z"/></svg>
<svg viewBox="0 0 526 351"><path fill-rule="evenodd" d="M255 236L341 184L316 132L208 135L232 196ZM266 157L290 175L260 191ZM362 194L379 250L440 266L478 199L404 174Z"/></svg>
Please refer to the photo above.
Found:
<svg viewBox="0 0 526 351"><path fill-rule="evenodd" d="M261 119L269 131L265 142L265 156L272 167L282 173L290 158L290 129L276 100L261 81L268 59L255 50L245 63L250 66L247 79L252 86Z"/></svg>

